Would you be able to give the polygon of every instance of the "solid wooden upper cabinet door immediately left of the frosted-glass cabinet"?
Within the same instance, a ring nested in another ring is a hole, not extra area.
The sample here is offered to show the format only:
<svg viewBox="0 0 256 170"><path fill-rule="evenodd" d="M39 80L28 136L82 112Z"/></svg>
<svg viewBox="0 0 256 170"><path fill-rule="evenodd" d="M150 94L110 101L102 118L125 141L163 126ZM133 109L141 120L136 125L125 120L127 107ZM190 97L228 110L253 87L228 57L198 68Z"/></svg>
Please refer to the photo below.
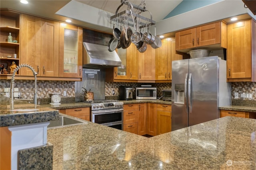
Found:
<svg viewBox="0 0 256 170"><path fill-rule="evenodd" d="M40 75L59 76L59 22L42 18Z"/></svg>

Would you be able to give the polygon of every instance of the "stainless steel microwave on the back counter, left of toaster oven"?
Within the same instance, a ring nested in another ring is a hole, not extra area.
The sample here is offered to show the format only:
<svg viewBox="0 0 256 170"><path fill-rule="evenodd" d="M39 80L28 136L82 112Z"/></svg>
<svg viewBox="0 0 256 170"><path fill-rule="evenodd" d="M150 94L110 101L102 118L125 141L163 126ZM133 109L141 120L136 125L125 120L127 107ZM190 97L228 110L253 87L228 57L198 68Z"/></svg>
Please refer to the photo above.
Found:
<svg viewBox="0 0 256 170"><path fill-rule="evenodd" d="M136 88L137 100L156 100L156 87L138 87Z"/></svg>

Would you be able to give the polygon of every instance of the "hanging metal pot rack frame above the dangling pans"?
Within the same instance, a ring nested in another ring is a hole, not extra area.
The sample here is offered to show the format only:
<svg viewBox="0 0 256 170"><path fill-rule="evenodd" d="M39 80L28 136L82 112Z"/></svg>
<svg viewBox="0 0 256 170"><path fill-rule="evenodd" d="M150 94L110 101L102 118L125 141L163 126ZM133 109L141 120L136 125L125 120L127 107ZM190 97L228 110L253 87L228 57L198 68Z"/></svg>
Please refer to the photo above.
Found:
<svg viewBox="0 0 256 170"><path fill-rule="evenodd" d="M118 13L118 10L124 4L127 5L128 10L124 10L124 11ZM120 23L126 22L127 25L134 27L133 20L132 20L132 18L130 18L130 16L132 15L133 18L135 18L136 20L139 20L138 25L140 25L140 27L138 27L138 28L140 28L140 29L144 28L144 27L148 27L150 25L155 25L156 21L152 20L152 14L150 11L146 10L145 5L146 5L145 0L142 0L140 5L132 4L128 0L121 0L120 6L118 6L118 8L116 9L116 14L110 17L110 23L114 22L114 23L117 23L117 25L118 25L119 22ZM136 11L134 11L134 9L136 9ZM149 12L150 18L141 16L142 12ZM125 21L125 20L127 20L127 21Z"/></svg>

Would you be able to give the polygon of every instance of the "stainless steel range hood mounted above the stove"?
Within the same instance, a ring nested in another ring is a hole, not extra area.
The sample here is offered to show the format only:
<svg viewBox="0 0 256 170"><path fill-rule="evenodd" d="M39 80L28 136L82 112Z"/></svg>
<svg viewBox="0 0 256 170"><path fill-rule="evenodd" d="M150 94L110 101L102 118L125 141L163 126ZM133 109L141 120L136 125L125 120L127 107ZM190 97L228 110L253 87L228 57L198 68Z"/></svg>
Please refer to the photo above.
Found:
<svg viewBox="0 0 256 170"><path fill-rule="evenodd" d="M108 51L105 45L83 42L83 46L83 67L109 68L122 64L116 51Z"/></svg>

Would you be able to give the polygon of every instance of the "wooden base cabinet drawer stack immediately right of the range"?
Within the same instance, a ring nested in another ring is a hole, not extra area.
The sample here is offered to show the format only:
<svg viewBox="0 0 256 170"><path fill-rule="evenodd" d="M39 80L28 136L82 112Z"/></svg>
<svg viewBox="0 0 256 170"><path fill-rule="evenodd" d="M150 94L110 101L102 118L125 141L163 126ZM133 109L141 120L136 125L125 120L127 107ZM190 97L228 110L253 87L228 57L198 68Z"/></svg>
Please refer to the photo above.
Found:
<svg viewBox="0 0 256 170"><path fill-rule="evenodd" d="M138 104L124 104L123 130L138 134Z"/></svg>

